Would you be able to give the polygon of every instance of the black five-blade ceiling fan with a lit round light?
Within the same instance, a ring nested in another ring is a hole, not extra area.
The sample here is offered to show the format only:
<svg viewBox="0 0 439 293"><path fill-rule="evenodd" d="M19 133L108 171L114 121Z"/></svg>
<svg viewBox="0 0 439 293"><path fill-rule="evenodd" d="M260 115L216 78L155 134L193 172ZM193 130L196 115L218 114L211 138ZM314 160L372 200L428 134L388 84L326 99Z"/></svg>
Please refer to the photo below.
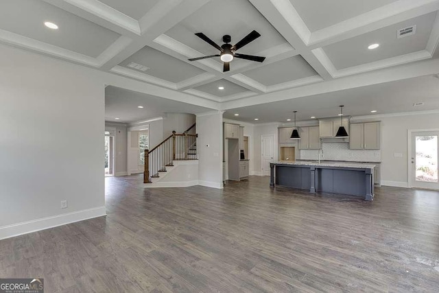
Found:
<svg viewBox="0 0 439 293"><path fill-rule="evenodd" d="M235 53L235 51L241 49L241 47L244 47L248 43L252 42L253 40L256 40L257 38L259 38L261 36L261 34L259 34L259 32L255 31L255 30L253 32L250 32L250 34L248 34L242 40L240 40L238 43L236 43L236 45L229 44L231 38L228 34L226 34L222 37L224 44L221 47L219 47L219 45L217 45L213 40L211 40L208 36L206 36L202 32L196 33L195 36L198 36L198 38L201 38L206 43L209 43L210 45L212 45L213 47L218 49L220 52L219 52L219 54L216 54L216 55L191 58L191 59L188 59L189 61L219 57L219 58L221 58L222 62L224 62L223 72L226 72L226 71L230 70L230 61L232 61L233 58L241 58L241 59L246 59L246 60L251 60L251 61L256 61L256 62L263 62L263 60L265 60L265 57L261 57L261 56L252 56L252 55Z"/></svg>

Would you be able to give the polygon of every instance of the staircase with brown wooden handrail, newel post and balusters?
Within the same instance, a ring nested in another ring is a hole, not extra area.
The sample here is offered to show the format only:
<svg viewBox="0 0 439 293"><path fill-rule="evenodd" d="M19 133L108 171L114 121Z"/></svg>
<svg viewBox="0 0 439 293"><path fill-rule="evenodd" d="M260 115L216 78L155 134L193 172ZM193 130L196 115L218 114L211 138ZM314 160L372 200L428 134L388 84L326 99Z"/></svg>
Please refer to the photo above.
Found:
<svg viewBox="0 0 439 293"><path fill-rule="evenodd" d="M145 150L145 172L143 183L155 183L167 172L175 169L175 163L180 161L196 161L197 138L195 124L185 132L178 134L175 131L152 150ZM187 165L178 163L177 165Z"/></svg>

